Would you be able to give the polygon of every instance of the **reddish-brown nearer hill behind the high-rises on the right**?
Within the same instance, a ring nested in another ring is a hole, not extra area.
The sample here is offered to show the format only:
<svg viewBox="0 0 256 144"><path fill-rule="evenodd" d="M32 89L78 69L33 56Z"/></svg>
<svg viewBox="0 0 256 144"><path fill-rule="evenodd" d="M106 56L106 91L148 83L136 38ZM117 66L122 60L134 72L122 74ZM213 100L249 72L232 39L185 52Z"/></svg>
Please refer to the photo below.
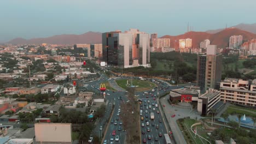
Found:
<svg viewBox="0 0 256 144"><path fill-rule="evenodd" d="M220 48L227 47L229 44L229 38L231 35L243 35L243 41L247 41L253 38L256 38L256 34L249 33L246 31L242 31L241 29L237 28L228 28L220 31L218 33L210 34L206 32L188 32L182 35L171 36L165 35L161 38L170 38L171 39L171 47L178 47L179 39L192 39L192 46L199 47L201 41L205 39L209 39L211 44L217 45ZM175 42L176 41L176 42Z"/></svg>

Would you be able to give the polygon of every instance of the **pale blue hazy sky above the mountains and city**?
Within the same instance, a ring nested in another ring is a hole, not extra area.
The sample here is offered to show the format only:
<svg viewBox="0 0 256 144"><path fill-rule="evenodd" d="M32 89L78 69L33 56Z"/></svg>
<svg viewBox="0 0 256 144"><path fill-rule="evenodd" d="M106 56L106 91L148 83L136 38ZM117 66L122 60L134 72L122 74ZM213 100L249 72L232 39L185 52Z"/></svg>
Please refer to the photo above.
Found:
<svg viewBox="0 0 256 144"><path fill-rule="evenodd" d="M255 0L0 0L0 42L125 31L178 35L256 22Z"/></svg>

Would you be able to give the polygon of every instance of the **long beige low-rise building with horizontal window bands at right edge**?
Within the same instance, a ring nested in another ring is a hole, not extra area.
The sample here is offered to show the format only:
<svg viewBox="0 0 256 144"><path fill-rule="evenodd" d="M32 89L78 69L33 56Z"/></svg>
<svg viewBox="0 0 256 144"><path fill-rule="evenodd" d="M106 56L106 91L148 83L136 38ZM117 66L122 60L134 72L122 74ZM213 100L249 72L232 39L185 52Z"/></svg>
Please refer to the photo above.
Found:
<svg viewBox="0 0 256 144"><path fill-rule="evenodd" d="M244 81L242 79L225 78L220 82L220 99L224 102L239 105L256 106L256 79Z"/></svg>

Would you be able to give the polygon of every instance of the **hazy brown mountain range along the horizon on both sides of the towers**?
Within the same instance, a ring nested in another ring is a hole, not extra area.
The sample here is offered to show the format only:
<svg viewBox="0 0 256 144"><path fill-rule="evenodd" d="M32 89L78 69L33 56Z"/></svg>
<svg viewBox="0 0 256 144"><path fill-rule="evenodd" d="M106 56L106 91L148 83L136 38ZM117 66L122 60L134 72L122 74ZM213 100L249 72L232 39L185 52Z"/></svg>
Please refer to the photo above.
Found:
<svg viewBox="0 0 256 144"><path fill-rule="evenodd" d="M231 35L243 35L243 41L256 38L256 23L241 23L237 26L226 29L215 29L206 32L187 32L181 35L164 35L161 38L171 39L171 47L178 47L179 39L191 38L193 47L199 47L201 41L209 39L211 44L218 47L228 47ZM22 39L16 38L7 42L8 44L97 44L102 43L100 32L87 32L80 35L62 34L48 38Z"/></svg>

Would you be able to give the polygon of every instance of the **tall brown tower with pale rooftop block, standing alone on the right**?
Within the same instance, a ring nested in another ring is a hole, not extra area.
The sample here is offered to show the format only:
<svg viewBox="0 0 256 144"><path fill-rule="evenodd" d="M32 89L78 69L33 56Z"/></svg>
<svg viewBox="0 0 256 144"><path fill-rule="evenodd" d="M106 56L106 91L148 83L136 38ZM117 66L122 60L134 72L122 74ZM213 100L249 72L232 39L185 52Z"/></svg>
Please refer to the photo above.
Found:
<svg viewBox="0 0 256 144"><path fill-rule="evenodd" d="M201 92L208 88L218 89L222 78L222 55L217 55L217 46L208 45L206 55L197 56L197 85Z"/></svg>

